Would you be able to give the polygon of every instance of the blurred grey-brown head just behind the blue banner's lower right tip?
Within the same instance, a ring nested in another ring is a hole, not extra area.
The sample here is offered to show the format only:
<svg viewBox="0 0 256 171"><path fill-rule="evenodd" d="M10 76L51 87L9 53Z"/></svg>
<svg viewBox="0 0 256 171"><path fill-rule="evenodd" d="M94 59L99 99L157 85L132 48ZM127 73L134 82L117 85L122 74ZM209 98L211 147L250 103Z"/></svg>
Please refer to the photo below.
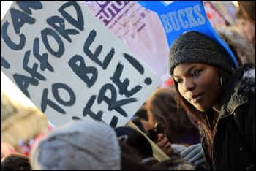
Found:
<svg viewBox="0 0 256 171"><path fill-rule="evenodd" d="M219 26L215 28L219 37L221 37L230 47L238 62L238 66L246 63L255 65L255 47L248 39L244 38L233 27Z"/></svg>

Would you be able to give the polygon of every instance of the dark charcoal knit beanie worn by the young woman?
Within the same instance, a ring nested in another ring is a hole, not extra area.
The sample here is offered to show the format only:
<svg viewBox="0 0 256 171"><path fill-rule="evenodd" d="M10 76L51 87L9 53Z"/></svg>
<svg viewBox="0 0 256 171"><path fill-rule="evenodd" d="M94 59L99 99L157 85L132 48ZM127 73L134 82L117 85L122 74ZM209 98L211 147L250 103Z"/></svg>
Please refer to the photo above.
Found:
<svg viewBox="0 0 256 171"><path fill-rule="evenodd" d="M182 63L203 63L232 73L232 67L213 40L197 31L181 34L170 47L169 71Z"/></svg>

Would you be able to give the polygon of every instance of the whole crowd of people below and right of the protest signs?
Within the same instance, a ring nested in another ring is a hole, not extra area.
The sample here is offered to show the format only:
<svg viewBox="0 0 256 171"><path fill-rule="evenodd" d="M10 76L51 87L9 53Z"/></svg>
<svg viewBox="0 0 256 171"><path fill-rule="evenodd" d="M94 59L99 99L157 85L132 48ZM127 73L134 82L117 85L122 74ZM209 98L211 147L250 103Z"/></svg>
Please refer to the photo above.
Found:
<svg viewBox="0 0 256 171"><path fill-rule="evenodd" d="M211 38L184 32L170 47L173 84L154 91L135 127L70 121L28 156L1 143L1 170L255 170L255 1L238 5L241 31L215 28L238 69Z"/></svg>

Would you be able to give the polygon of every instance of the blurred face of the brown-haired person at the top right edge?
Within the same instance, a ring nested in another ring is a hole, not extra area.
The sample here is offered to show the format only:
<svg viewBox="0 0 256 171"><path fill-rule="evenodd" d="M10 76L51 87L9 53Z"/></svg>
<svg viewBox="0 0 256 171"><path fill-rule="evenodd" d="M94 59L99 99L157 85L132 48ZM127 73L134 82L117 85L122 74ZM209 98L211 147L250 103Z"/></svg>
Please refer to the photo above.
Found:
<svg viewBox="0 0 256 171"><path fill-rule="evenodd" d="M255 22L252 23L249 20L239 20L242 25L244 36L249 39L249 42L255 44Z"/></svg>

